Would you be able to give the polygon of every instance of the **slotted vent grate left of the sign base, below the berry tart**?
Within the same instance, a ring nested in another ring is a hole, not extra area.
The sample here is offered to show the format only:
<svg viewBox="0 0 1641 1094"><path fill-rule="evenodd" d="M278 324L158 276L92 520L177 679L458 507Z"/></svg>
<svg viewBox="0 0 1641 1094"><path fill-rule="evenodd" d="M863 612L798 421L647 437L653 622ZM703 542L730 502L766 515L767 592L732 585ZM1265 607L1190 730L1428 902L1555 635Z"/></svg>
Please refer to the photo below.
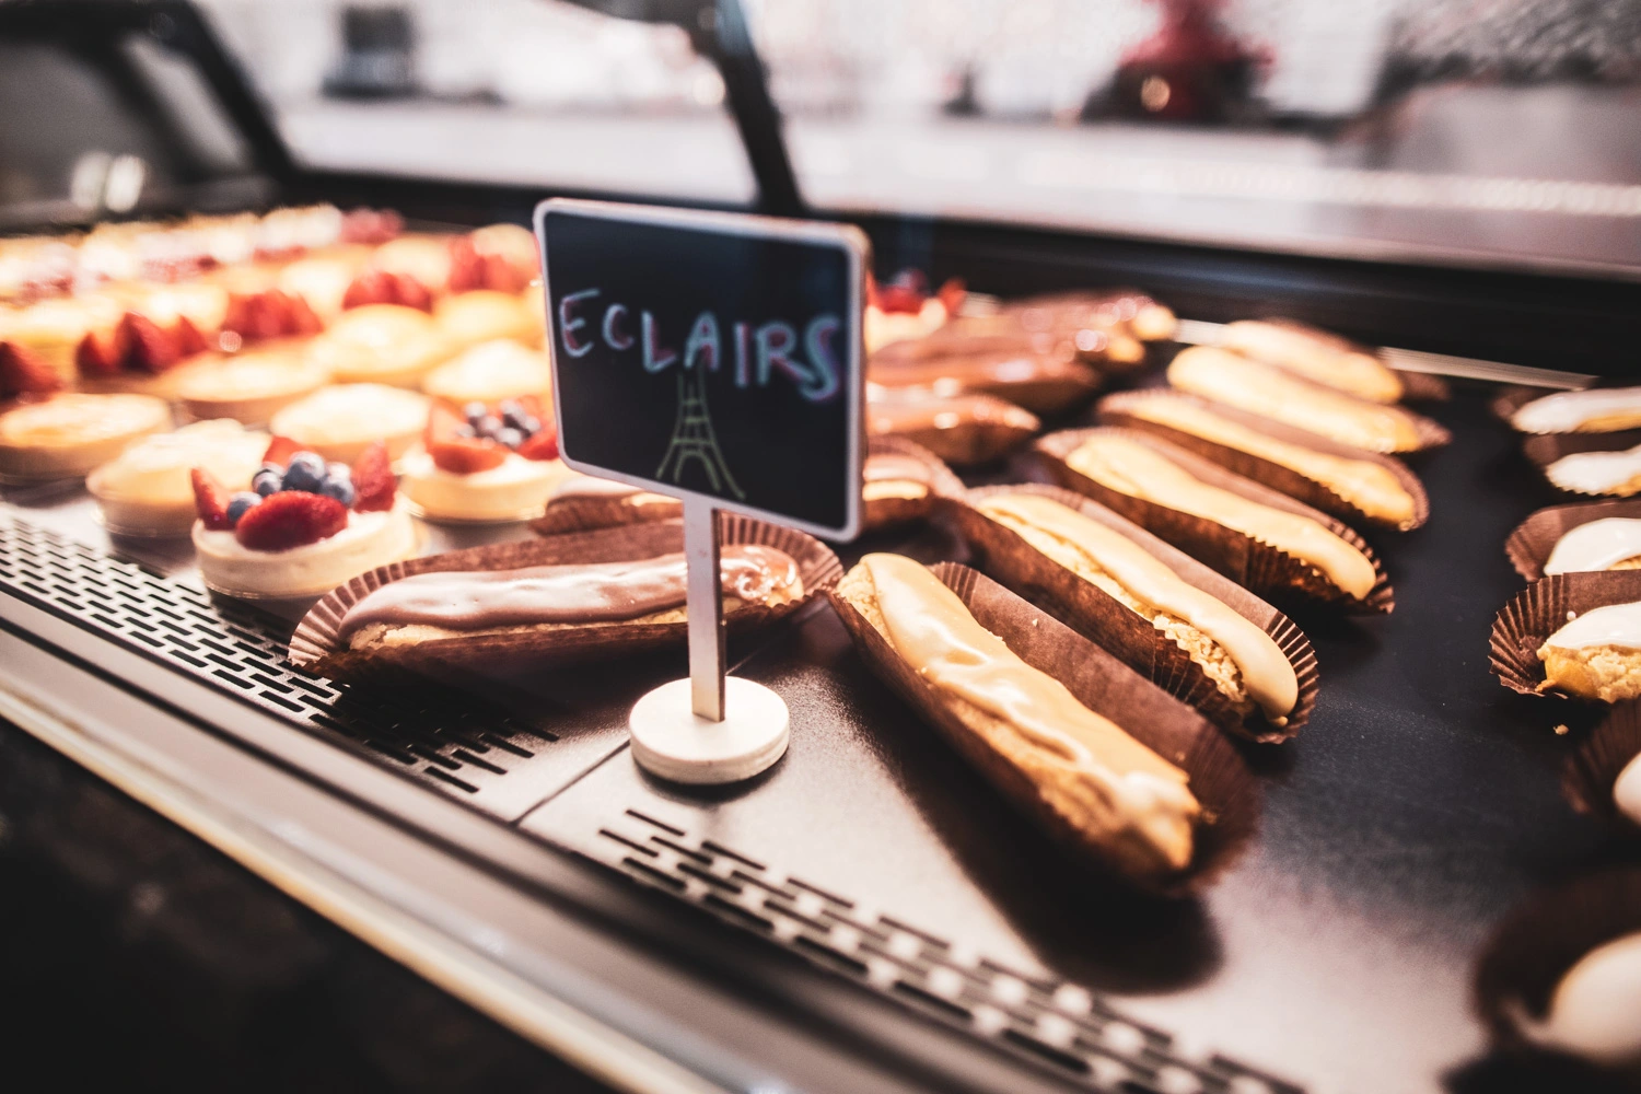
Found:
<svg viewBox="0 0 1641 1094"><path fill-rule="evenodd" d="M0 515L0 589L287 722L336 735L481 809L548 743L453 691L350 691L286 661L289 625Z"/></svg>

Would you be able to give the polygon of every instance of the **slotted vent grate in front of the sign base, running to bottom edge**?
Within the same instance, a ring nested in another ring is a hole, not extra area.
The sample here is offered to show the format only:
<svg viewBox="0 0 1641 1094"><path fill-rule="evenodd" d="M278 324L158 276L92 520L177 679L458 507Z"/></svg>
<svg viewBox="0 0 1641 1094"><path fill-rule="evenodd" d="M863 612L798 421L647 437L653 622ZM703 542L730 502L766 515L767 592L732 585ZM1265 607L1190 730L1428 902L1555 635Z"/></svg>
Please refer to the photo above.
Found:
<svg viewBox="0 0 1641 1094"><path fill-rule="evenodd" d="M1009 969L886 915L863 917L843 896L635 809L599 836L602 858L629 876L1095 1089L1301 1094L1224 1056L1193 1056L1085 987Z"/></svg>

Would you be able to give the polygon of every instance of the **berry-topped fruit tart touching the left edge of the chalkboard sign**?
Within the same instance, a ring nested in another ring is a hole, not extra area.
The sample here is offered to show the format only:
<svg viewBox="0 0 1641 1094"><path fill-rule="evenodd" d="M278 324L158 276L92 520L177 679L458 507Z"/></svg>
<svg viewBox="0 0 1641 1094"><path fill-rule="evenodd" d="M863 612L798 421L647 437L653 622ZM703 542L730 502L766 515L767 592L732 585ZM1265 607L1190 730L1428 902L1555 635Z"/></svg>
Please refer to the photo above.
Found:
<svg viewBox="0 0 1641 1094"><path fill-rule="evenodd" d="M422 448L404 459L404 494L428 520L530 520L566 474L551 413L535 395L461 408L437 400Z"/></svg>

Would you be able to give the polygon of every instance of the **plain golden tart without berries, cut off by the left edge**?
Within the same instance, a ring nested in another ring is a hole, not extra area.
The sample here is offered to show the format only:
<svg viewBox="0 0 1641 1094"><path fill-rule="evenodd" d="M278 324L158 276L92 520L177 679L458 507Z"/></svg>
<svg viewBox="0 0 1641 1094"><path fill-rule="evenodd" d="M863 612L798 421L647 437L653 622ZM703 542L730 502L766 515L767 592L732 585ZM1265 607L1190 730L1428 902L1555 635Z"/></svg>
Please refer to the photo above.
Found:
<svg viewBox="0 0 1641 1094"><path fill-rule="evenodd" d="M77 479L149 433L171 428L171 408L151 395L59 392L0 410L0 477Z"/></svg>

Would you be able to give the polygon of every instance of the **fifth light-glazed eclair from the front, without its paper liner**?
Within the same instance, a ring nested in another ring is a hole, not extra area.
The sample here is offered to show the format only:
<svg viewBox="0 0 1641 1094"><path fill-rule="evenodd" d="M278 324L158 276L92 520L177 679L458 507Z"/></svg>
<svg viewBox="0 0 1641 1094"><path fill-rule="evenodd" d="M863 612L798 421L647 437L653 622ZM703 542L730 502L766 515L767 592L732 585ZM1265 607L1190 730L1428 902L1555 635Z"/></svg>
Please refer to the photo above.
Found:
<svg viewBox="0 0 1641 1094"><path fill-rule="evenodd" d="M1318 389L1282 369L1224 349L1185 349L1168 366L1168 382L1183 392L1321 433L1342 444L1375 453L1400 453L1419 446L1413 422L1395 407Z"/></svg>

